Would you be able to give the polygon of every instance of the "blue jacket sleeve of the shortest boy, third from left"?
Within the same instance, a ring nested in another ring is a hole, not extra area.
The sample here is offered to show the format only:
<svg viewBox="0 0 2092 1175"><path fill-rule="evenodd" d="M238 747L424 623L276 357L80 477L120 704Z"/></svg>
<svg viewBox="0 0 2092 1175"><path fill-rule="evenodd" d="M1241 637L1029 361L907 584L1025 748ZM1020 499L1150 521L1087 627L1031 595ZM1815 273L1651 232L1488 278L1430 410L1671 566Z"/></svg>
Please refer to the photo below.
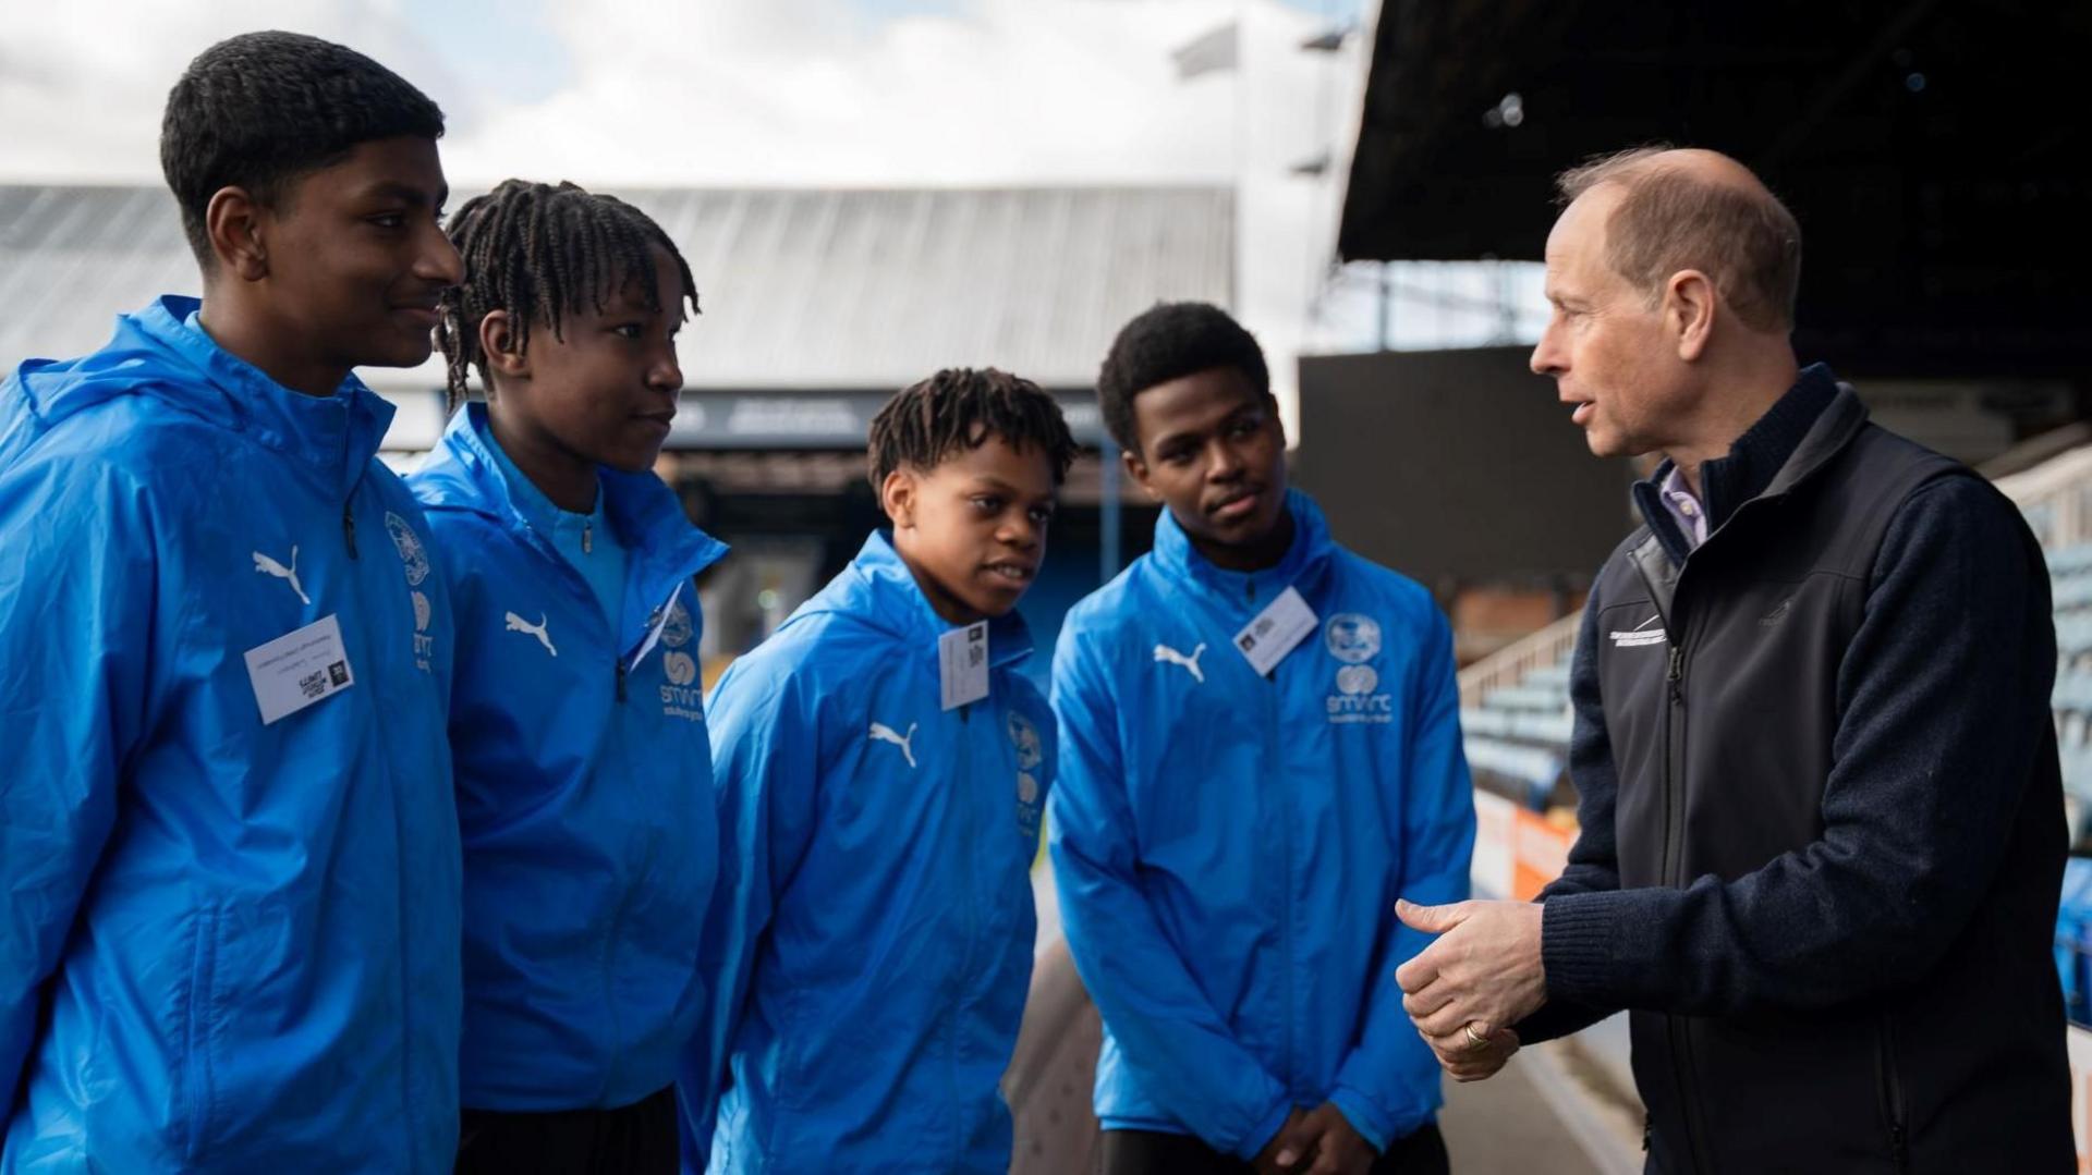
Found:
<svg viewBox="0 0 2092 1175"><path fill-rule="evenodd" d="M820 723L801 675L780 659L743 659L711 694L711 782L720 813L720 882L705 912L699 966L705 1018L684 1054L682 1169L703 1175L755 955L784 878L812 836Z"/></svg>

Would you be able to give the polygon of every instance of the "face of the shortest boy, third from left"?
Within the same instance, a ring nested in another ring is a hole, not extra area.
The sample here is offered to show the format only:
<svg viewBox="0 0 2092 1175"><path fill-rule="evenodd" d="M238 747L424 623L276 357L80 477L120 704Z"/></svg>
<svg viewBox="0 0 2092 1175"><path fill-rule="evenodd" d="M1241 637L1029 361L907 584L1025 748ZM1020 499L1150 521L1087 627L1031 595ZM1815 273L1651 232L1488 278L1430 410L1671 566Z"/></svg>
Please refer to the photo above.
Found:
<svg viewBox="0 0 2092 1175"><path fill-rule="evenodd" d="M1015 608L1038 577L1056 489L1038 445L990 435L935 468L889 473L879 498L893 519L893 548L931 606L971 623Z"/></svg>

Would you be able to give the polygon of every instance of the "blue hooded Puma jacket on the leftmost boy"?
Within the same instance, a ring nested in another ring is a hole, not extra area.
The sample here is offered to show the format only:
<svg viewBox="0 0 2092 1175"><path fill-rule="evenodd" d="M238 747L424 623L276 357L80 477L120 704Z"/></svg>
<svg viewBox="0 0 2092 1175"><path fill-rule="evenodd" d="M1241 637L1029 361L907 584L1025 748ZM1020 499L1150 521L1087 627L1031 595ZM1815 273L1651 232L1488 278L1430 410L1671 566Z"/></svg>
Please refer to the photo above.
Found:
<svg viewBox="0 0 2092 1175"><path fill-rule="evenodd" d="M195 312L0 385L0 1171L450 1171L444 579L391 406ZM264 723L324 617L347 686Z"/></svg>

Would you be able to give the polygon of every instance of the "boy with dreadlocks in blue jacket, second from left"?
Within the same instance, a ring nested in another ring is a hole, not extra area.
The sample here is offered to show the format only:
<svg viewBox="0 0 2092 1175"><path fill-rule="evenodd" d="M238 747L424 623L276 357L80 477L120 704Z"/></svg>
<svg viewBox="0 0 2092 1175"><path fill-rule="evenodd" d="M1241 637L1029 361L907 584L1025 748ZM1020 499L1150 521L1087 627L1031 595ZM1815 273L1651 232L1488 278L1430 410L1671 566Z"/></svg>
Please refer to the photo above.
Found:
<svg viewBox="0 0 2092 1175"><path fill-rule="evenodd" d="M458 625L458 1171L669 1173L718 870L690 577L726 548L653 473L697 291L653 220L573 184L508 180L450 236L462 410L410 485Z"/></svg>

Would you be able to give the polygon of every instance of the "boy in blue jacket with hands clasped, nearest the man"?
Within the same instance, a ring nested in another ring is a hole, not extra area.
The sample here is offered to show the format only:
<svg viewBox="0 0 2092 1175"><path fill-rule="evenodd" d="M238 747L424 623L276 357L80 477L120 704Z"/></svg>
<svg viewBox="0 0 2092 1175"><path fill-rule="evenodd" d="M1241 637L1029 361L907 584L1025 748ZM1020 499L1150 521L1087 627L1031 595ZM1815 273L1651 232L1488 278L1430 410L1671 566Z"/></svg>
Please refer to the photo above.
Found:
<svg viewBox="0 0 2092 1175"><path fill-rule="evenodd" d="M1098 376L1155 548L1054 650L1061 918L1105 1018L1107 1175L1446 1171L1397 897L1466 895L1475 809L1431 596L1287 489L1264 353L1134 318Z"/></svg>

